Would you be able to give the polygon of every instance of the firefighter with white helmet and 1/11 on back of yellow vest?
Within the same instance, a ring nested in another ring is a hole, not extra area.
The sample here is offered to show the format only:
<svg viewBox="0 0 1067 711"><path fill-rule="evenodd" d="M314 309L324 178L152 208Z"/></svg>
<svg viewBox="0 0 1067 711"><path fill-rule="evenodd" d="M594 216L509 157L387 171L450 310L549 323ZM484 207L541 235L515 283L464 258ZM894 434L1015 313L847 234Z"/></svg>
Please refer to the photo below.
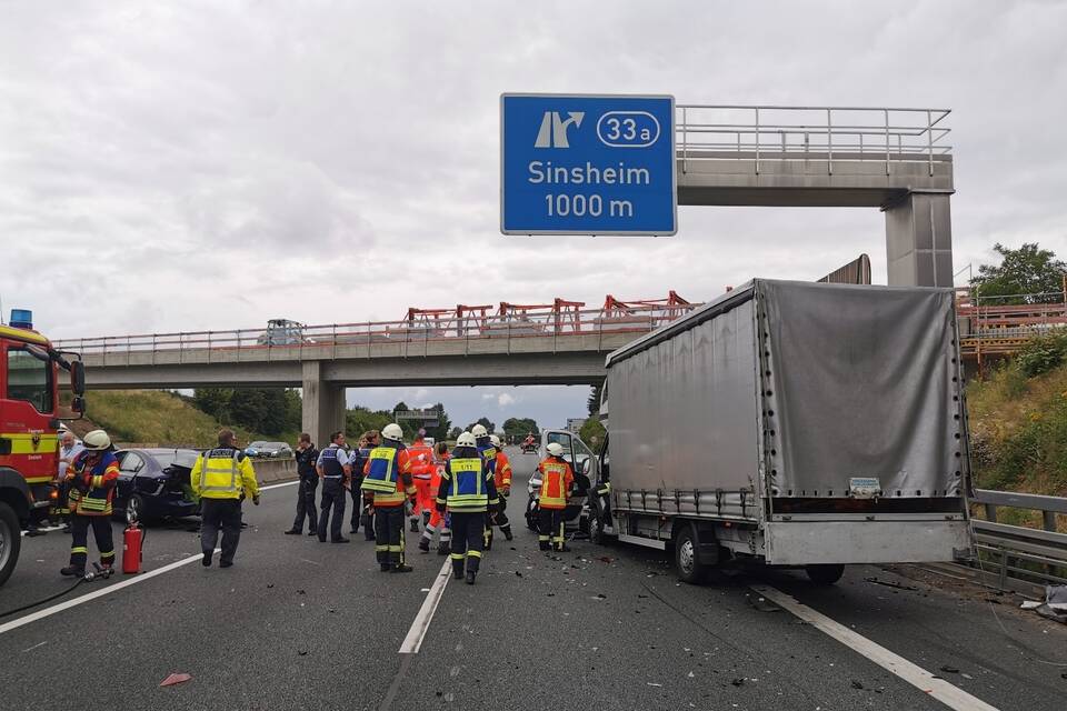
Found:
<svg viewBox="0 0 1067 711"><path fill-rule="evenodd" d="M445 464L437 492L437 510L446 509L452 521L452 574L475 584L485 544L486 513L497 507L497 488L488 462L478 451L473 434L456 440L451 459Z"/></svg>

